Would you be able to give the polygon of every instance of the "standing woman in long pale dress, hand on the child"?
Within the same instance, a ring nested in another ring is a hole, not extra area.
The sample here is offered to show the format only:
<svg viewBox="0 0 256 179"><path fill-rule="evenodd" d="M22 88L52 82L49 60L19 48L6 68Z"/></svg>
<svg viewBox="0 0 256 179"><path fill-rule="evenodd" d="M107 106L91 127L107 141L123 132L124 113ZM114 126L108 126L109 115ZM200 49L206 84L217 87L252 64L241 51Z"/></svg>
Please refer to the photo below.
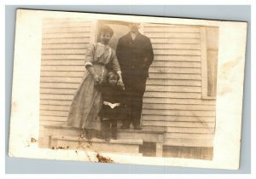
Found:
<svg viewBox="0 0 256 179"><path fill-rule="evenodd" d="M67 124L86 130L86 138L90 139L92 131L100 130L98 113L102 107L102 93L99 85L104 83L108 69L119 75L119 86L124 88L119 62L115 52L108 42L113 36L113 30L103 26L100 32L101 42L90 44L85 55L85 73L82 83L73 97L69 109Z"/></svg>

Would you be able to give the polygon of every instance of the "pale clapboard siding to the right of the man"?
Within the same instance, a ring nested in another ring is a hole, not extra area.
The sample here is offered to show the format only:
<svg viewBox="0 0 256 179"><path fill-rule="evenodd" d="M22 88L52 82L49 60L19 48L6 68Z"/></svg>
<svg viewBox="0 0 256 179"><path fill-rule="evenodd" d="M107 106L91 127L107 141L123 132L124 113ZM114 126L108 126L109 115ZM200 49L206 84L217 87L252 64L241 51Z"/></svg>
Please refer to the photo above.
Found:
<svg viewBox="0 0 256 179"><path fill-rule="evenodd" d="M154 48L143 98L142 125L165 130L167 146L212 147L215 101L201 99L201 31L145 24Z"/></svg>

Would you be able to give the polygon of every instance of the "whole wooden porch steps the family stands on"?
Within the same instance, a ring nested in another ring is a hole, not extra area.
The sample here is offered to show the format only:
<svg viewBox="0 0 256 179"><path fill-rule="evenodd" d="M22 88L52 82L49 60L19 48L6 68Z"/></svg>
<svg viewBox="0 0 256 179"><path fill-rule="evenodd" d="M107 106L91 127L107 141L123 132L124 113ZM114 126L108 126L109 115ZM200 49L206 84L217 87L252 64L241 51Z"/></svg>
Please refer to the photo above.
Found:
<svg viewBox="0 0 256 179"><path fill-rule="evenodd" d="M155 156L162 156L163 136L162 131L157 130L118 130L117 140L104 141L102 139L92 138L90 141L83 136L83 130L67 126L65 124L44 124L40 131L40 147L49 148L69 148L75 150L88 150L96 152L114 152L130 153L142 155L139 153L143 142L155 142ZM90 143L92 146L90 146Z"/></svg>

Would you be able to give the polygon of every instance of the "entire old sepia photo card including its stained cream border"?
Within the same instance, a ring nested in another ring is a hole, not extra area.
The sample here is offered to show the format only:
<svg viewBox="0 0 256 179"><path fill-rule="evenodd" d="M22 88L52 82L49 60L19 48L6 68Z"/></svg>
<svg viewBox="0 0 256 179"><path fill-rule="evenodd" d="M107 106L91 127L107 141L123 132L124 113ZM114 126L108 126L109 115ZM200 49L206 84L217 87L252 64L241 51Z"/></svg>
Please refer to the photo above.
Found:
<svg viewBox="0 0 256 179"><path fill-rule="evenodd" d="M246 30L245 22L18 10L9 153L237 169ZM28 101L21 77L32 79ZM20 123L29 123L26 134Z"/></svg>

